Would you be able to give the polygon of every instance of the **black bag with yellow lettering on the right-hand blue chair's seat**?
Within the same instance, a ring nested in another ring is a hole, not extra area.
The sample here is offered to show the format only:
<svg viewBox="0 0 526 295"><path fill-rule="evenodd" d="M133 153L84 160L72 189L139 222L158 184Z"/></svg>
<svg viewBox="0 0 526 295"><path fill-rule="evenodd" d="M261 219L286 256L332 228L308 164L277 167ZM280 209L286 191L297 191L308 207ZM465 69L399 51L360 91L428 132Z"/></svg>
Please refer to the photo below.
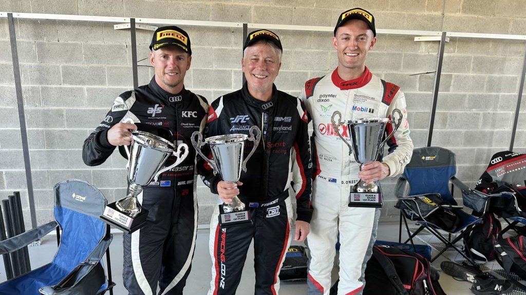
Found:
<svg viewBox="0 0 526 295"><path fill-rule="evenodd" d="M462 225L462 219L454 213L454 209L460 209L462 206L444 202L440 194L400 198L395 207L403 210L413 221L429 222L450 232Z"/></svg>

